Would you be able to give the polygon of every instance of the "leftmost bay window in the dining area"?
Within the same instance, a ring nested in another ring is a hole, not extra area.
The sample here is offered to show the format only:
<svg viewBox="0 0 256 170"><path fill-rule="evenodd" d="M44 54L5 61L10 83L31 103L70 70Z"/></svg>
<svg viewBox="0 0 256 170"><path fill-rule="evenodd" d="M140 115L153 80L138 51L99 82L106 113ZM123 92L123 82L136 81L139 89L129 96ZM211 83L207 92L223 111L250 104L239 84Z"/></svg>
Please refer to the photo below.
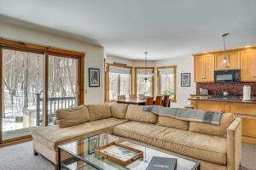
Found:
<svg viewBox="0 0 256 170"><path fill-rule="evenodd" d="M108 99L131 94L131 67L108 65Z"/></svg>

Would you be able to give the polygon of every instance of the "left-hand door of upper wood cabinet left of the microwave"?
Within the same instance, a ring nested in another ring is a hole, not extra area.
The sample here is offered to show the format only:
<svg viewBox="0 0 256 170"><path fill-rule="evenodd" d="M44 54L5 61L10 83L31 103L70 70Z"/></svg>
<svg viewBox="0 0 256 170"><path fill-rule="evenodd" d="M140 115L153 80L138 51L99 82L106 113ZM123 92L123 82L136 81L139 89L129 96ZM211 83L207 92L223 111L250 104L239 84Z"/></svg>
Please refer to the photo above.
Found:
<svg viewBox="0 0 256 170"><path fill-rule="evenodd" d="M194 57L194 69L195 69L195 82L204 82L205 58L203 55Z"/></svg>

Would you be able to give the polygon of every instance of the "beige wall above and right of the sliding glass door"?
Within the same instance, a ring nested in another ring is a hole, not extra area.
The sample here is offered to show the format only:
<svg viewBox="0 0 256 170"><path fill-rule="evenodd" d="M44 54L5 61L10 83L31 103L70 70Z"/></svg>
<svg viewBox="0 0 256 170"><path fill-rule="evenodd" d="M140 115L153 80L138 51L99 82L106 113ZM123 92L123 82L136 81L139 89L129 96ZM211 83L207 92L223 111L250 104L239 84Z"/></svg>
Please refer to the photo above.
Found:
<svg viewBox="0 0 256 170"><path fill-rule="evenodd" d="M90 45L87 42L79 42L65 37L55 36L43 31L35 31L20 26L14 26L0 21L0 37L23 42L32 42L49 45L56 48L66 48L84 52L84 101L85 104L102 103L104 101L104 48ZM101 87L89 88L88 70L89 68L101 69Z"/></svg>

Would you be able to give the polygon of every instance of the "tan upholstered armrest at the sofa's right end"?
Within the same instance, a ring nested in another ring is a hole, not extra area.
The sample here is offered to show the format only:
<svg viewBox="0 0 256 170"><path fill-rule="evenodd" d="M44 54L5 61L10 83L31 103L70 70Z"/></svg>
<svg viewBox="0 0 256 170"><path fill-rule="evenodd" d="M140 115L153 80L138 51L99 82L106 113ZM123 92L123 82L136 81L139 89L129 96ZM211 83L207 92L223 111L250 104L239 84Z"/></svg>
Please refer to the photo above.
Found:
<svg viewBox="0 0 256 170"><path fill-rule="evenodd" d="M227 128L227 167L228 170L239 170L241 162L241 118Z"/></svg>

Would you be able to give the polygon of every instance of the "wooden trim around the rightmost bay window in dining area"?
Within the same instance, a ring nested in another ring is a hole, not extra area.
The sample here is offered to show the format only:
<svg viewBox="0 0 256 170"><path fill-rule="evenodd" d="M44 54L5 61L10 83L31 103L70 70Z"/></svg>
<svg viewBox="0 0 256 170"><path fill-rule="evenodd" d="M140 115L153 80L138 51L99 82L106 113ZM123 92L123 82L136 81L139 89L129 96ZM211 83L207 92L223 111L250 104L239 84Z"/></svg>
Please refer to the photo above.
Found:
<svg viewBox="0 0 256 170"><path fill-rule="evenodd" d="M174 74L174 86L173 86L173 90L174 90L174 94L173 94L173 98L172 98L172 102L177 102L177 78L176 78L176 73L177 73L177 65L168 65L168 66L160 66L160 67L156 67L157 70L157 93L159 95L160 94L160 69L173 69L173 74Z"/></svg>

